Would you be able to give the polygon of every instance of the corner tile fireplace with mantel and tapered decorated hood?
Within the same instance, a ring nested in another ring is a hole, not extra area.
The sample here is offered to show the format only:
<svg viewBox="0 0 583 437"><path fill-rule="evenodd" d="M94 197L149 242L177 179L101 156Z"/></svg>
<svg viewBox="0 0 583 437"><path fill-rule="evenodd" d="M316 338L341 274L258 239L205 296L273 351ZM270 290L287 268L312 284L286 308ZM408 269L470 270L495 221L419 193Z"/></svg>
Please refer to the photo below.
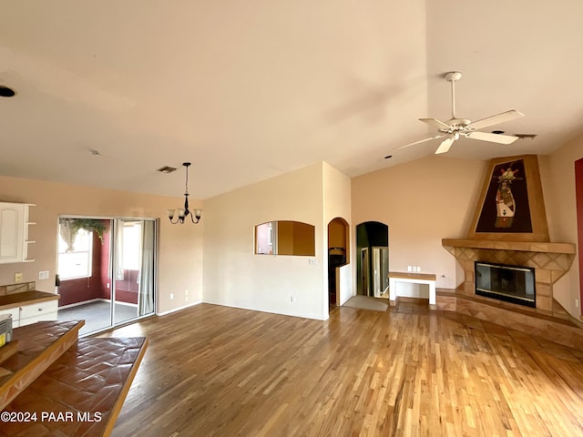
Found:
<svg viewBox="0 0 583 437"><path fill-rule="evenodd" d="M442 245L464 271L457 293L565 312L553 286L570 269L576 246L550 241L537 156L492 159L466 238Z"/></svg>

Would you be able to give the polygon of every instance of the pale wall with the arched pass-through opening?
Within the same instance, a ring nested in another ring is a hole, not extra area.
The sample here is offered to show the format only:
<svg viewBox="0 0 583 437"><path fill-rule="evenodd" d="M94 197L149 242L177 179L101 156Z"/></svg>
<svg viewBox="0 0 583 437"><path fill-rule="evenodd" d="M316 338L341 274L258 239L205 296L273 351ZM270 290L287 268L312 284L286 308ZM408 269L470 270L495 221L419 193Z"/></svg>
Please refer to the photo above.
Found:
<svg viewBox="0 0 583 437"><path fill-rule="evenodd" d="M311 319L324 304L322 163L205 200L203 300ZM255 255L254 227L272 220L315 226L315 257ZM311 265L310 259L317 259ZM293 300L293 301L292 301Z"/></svg>

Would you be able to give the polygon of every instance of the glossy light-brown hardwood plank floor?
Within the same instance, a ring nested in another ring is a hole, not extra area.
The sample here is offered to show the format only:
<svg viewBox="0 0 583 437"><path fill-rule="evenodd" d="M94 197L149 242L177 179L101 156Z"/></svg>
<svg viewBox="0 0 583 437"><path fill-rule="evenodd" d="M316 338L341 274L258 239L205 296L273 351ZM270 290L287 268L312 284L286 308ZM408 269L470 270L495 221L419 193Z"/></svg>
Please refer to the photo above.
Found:
<svg viewBox="0 0 583 437"><path fill-rule="evenodd" d="M414 303L304 320L208 304L149 347L114 436L583 435L583 351Z"/></svg>

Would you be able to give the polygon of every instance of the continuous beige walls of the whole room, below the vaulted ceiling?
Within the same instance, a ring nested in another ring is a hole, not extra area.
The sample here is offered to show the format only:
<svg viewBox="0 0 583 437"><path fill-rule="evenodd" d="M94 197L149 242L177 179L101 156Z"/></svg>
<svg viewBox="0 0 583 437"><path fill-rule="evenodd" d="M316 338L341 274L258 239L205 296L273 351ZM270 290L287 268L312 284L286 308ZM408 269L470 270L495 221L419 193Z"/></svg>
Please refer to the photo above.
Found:
<svg viewBox="0 0 583 437"><path fill-rule="evenodd" d="M577 242L574 161L582 157L583 137L539 159L553 241ZM158 312L207 300L327 318L326 236L328 223L336 217L350 225L352 259L356 256L353 229L364 221L380 221L389 226L391 270L421 266L423 272L437 275L437 287L454 289L463 277L441 239L465 238L486 169L486 161L432 155L351 180L328 164L317 163L206 200L197 226L170 225L165 218L166 208L179 204L181 198L0 177L0 201L36 204L31 219L37 223L31 228L36 244L30 256L35 262L0 265L0 284L14 282L15 272L23 272L25 280L36 280L38 290L54 291L57 217L70 214L162 218ZM193 208L202 207L191 203ZM254 255L253 228L271 220L314 225L316 256ZM310 259L316 259L317 265ZM49 270L51 279L38 280L40 270ZM353 290L354 280L352 273ZM174 300L169 299L170 293ZM578 315L577 262L559 279L555 294L571 314Z"/></svg>

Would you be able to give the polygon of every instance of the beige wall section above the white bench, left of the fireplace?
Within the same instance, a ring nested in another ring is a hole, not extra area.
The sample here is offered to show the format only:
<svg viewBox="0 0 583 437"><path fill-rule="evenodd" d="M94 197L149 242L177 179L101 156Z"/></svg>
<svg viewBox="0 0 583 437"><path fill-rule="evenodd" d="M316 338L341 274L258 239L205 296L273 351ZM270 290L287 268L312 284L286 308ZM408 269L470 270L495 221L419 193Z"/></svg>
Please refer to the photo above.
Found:
<svg viewBox="0 0 583 437"><path fill-rule="evenodd" d="M463 276L441 239L465 238L486 164L432 155L353 178L353 227L388 225L391 271L420 266L437 275L437 287L455 289Z"/></svg>

